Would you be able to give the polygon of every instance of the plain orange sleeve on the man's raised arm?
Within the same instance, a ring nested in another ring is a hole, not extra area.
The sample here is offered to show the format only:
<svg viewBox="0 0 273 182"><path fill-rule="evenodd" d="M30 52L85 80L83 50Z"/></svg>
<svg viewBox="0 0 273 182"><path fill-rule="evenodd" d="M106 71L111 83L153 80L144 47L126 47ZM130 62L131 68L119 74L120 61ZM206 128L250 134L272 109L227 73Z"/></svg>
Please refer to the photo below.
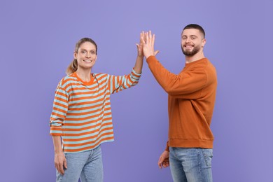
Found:
<svg viewBox="0 0 273 182"><path fill-rule="evenodd" d="M155 56L148 57L147 62L155 79L172 97L198 99L200 95L197 94L197 91L201 90L207 83L204 65L196 66L191 71L182 71L176 75L165 69Z"/></svg>

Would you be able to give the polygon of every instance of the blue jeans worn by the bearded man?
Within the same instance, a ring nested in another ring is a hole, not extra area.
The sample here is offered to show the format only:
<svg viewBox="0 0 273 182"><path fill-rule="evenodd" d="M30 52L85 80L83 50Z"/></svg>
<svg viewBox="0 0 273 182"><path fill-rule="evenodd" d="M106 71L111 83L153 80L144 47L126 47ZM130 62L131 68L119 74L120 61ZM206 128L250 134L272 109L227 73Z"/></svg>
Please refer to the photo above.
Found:
<svg viewBox="0 0 273 182"><path fill-rule="evenodd" d="M174 182L212 182L212 149L169 148L169 165Z"/></svg>

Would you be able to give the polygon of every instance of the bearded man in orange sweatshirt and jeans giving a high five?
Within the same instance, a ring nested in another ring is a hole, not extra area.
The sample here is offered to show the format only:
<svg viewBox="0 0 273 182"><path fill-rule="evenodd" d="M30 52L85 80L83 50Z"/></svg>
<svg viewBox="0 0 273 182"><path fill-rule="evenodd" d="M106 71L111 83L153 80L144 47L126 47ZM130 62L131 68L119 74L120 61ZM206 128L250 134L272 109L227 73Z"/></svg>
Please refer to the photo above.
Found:
<svg viewBox="0 0 273 182"><path fill-rule="evenodd" d="M206 43L200 25L187 25L181 34L186 65L170 73L155 58L155 35L146 33L144 56L153 76L168 93L169 140L158 165L170 166L175 182L212 181L214 136L210 129L216 99L216 69L204 57Z"/></svg>

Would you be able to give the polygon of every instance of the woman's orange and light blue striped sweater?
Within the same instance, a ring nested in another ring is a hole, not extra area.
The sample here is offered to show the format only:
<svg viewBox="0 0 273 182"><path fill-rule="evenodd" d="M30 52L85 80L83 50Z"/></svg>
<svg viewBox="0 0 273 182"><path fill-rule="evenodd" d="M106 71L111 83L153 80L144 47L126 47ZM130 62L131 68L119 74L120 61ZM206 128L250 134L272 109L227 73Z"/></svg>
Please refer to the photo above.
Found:
<svg viewBox="0 0 273 182"><path fill-rule="evenodd" d="M137 85L140 74L92 73L84 82L76 73L62 78L55 90L50 134L61 136L64 153L88 151L113 141L110 94Z"/></svg>

